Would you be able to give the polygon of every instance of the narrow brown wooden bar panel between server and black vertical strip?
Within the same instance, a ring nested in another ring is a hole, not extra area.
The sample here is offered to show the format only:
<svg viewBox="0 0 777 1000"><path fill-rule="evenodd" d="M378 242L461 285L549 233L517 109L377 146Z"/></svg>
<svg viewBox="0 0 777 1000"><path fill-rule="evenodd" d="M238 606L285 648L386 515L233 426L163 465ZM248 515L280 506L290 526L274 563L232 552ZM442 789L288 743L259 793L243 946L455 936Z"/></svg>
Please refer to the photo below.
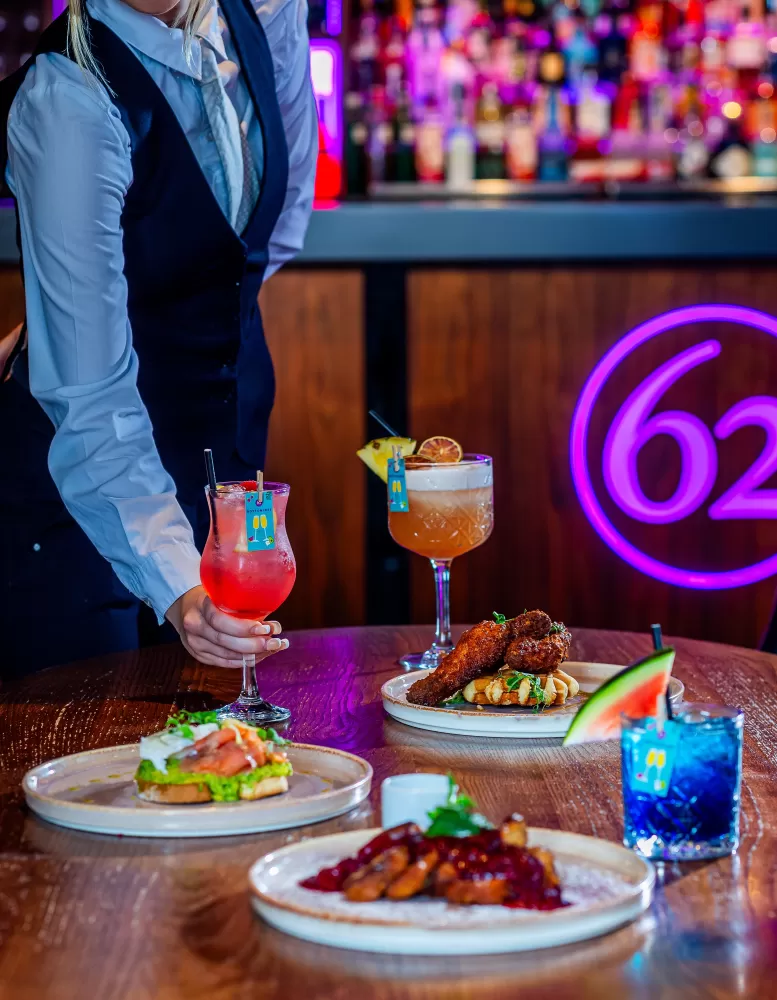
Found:
<svg viewBox="0 0 777 1000"><path fill-rule="evenodd" d="M286 628L361 624L366 491L363 278L289 270L261 295L277 394L267 475L290 483L297 584Z"/></svg>

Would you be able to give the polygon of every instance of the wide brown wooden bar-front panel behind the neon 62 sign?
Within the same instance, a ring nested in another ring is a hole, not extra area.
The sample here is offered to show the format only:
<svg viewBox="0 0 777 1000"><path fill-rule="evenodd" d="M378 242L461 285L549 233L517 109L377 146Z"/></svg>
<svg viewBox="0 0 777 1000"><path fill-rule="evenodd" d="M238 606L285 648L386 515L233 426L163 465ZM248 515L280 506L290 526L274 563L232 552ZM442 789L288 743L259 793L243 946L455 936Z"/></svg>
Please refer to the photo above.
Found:
<svg viewBox="0 0 777 1000"><path fill-rule="evenodd" d="M450 434L495 459L496 527L482 549L453 567L453 615L544 607L571 624L645 630L755 645L777 578L725 591L693 591L642 575L601 541L573 489L568 437L591 370L621 336L665 310L704 302L777 314L777 270L647 267L575 270L421 271L409 276L409 411L413 435ZM592 454L618 407L655 367L711 335L714 371L684 376L658 409L689 410L712 427L744 397L777 396L777 344L744 328L686 327L646 344L613 376L591 430ZM712 363L710 363L712 364ZM719 496L764 446L748 428L720 443ZM666 437L639 456L654 499L677 484L677 446ZM597 494L601 472L592 471ZM769 482L767 486L777 483ZM660 494L660 495L658 495ZM777 552L777 521L711 525L705 509L677 525L641 525L610 504L616 527L657 558L691 568L738 568ZM706 520L705 520L706 519ZM433 616L428 565L413 560L414 620Z"/></svg>

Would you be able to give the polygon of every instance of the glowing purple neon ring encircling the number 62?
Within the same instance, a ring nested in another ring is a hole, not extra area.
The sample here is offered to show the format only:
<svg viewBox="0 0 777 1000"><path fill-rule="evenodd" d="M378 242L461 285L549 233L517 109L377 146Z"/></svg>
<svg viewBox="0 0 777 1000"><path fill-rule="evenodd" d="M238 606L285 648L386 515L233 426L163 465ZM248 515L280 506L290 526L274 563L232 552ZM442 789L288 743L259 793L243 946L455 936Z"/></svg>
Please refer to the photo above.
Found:
<svg viewBox="0 0 777 1000"><path fill-rule="evenodd" d="M757 583L768 576L773 576L777 573L777 554L762 562L753 563L751 566L725 572L685 570L669 566L658 559L653 559L644 552L640 552L615 529L596 497L588 472L587 438L591 414L604 384L618 365L640 345L659 334L666 333L667 330L673 330L689 323L710 322L750 326L762 330L772 337L777 337L777 319L775 317L759 312L757 309L746 309L743 306L703 305L674 309L635 327L604 355L583 387L572 418L569 457L572 481L580 505L603 541L621 559L646 576L655 577L657 580L671 583L676 587L689 587L697 590L726 590L732 587L744 587L751 583ZM726 416L730 418L730 414ZM761 469L759 481L763 481L762 476L763 469ZM740 489L741 482L740 480L740 484L738 484ZM751 482L750 486L752 487L752 485L754 484Z"/></svg>

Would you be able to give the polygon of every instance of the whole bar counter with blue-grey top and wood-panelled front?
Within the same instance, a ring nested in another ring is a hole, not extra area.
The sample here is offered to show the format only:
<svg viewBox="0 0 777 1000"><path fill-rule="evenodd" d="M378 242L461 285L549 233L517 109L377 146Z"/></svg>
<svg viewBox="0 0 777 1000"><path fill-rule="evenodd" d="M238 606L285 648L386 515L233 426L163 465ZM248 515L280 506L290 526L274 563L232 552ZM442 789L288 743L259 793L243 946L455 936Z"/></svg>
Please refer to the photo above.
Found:
<svg viewBox="0 0 777 1000"><path fill-rule="evenodd" d="M640 324L709 304L758 310L769 322L777 316L777 196L518 194L500 199L486 189L457 201L430 195L320 207L298 261L265 286L277 377L266 472L292 484L289 533L299 564L284 624L433 617L429 567L392 542L384 487L354 455L382 433L367 418L373 408L419 441L447 434L494 457L494 537L454 563L454 617L543 607L594 627L641 631L660 621L674 634L757 645L774 577L699 589L693 579L667 584L624 560L581 506L570 433L589 376ZM0 329L23 313L13 230L3 211ZM691 323L645 343L610 379L589 447L594 492L620 534L651 565L671 563L691 577L769 559L777 552L773 515L716 521L705 503L674 524L635 520L607 498L600 456L608 421L629 394L712 334L720 362L685 375L657 410L690 413L712 435L743 399L777 397L774 338L731 323ZM714 500L755 463L763 430L708 440ZM666 501L680 474L670 439L640 451L646 503Z"/></svg>

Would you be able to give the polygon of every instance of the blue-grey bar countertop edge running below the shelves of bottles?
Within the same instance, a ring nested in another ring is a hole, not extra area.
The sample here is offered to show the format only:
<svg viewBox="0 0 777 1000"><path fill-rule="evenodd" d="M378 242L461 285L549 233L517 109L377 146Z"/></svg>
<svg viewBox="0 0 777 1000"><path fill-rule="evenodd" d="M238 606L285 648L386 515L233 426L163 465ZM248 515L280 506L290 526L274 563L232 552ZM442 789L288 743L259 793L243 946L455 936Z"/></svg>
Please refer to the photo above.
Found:
<svg viewBox="0 0 777 1000"><path fill-rule="evenodd" d="M777 196L725 200L346 202L313 213L306 266L770 260ZM0 208L0 263L17 260L15 221Z"/></svg>

